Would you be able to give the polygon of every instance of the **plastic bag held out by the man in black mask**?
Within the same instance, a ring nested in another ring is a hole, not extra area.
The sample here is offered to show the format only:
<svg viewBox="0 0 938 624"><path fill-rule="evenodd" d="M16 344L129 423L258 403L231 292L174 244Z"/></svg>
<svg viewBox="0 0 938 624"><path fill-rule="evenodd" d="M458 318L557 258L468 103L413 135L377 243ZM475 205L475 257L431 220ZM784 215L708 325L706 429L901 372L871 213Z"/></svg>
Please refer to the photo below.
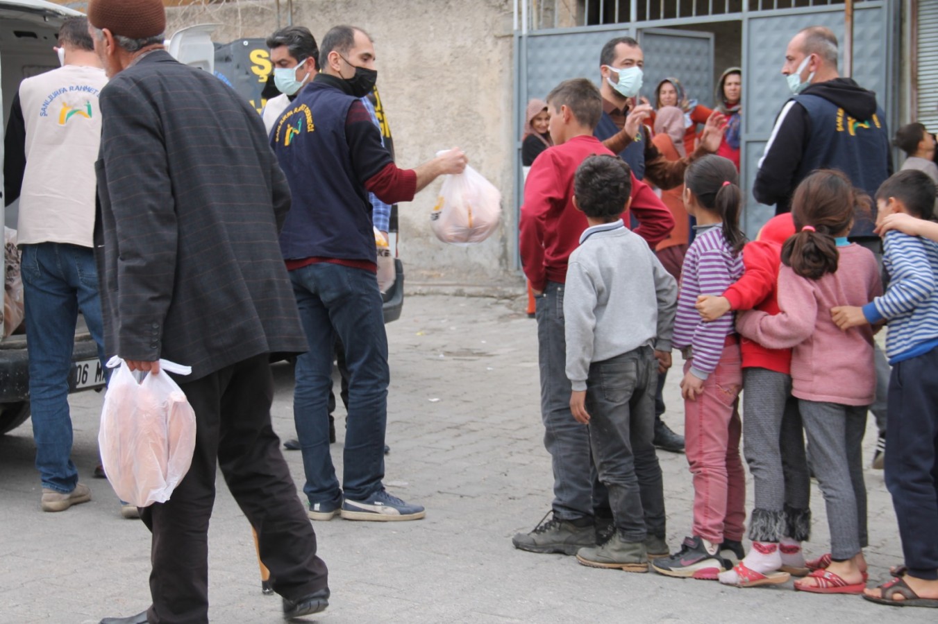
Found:
<svg viewBox="0 0 938 624"><path fill-rule="evenodd" d="M502 194L472 167L450 173L431 212L431 228L444 243L481 243L498 227Z"/></svg>

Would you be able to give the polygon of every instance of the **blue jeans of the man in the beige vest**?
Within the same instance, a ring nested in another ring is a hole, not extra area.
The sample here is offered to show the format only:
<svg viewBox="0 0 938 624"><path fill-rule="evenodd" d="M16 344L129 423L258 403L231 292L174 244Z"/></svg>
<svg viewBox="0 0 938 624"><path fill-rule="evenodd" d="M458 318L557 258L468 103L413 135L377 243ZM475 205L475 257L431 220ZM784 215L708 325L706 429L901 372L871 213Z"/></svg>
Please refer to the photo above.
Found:
<svg viewBox="0 0 938 624"><path fill-rule="evenodd" d="M104 365L98 269L90 247L23 245L23 295L29 398L42 487L67 494L78 483L71 461L68 375L81 310Z"/></svg>

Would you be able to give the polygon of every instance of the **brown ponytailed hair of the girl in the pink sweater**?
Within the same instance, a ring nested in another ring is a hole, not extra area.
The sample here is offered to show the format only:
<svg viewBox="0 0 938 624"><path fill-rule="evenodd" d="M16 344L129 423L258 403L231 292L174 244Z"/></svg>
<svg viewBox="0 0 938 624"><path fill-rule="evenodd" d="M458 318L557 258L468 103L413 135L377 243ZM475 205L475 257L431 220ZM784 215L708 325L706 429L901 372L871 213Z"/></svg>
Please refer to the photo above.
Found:
<svg viewBox="0 0 938 624"><path fill-rule="evenodd" d="M869 209L870 198L842 171L814 171L794 189L796 233L781 247L782 263L809 279L834 273L840 259L834 237L849 230L856 210Z"/></svg>

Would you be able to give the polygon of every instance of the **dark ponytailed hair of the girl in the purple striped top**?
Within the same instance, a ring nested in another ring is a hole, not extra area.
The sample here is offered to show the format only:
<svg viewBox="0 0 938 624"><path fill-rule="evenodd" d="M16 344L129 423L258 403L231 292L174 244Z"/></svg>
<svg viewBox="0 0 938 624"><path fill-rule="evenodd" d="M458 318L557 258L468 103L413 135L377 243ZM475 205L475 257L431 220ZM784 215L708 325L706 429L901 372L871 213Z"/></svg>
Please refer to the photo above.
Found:
<svg viewBox="0 0 938 624"><path fill-rule="evenodd" d="M736 255L746 245L746 235L739 229L743 209L743 191L739 171L733 161L713 154L694 160L684 173L684 184L703 208L723 220L723 238Z"/></svg>

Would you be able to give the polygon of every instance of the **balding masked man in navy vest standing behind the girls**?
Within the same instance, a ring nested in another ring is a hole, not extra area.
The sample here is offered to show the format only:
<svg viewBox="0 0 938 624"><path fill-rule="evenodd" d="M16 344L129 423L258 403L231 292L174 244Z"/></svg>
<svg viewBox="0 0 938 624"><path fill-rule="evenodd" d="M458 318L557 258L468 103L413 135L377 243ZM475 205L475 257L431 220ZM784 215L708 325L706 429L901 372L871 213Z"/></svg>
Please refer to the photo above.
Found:
<svg viewBox="0 0 938 624"><path fill-rule="evenodd" d="M791 210L794 188L811 171L833 168L875 196L892 173L885 113L876 94L840 78L837 37L827 28L798 32L785 51L781 73L794 97L779 112L759 161L752 193L757 201ZM872 215L856 215L851 238L878 242Z"/></svg>

